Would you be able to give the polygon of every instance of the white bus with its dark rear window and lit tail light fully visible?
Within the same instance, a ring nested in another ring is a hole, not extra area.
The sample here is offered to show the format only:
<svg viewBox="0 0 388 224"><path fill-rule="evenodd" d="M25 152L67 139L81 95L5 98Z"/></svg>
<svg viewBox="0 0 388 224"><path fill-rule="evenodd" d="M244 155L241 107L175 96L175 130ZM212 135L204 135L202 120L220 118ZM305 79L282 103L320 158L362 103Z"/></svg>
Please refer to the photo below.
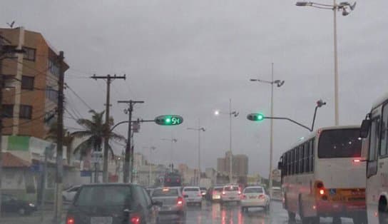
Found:
<svg viewBox="0 0 388 224"><path fill-rule="evenodd" d="M320 128L280 158L283 208L290 221L320 223L320 217L366 223L365 163L359 126Z"/></svg>

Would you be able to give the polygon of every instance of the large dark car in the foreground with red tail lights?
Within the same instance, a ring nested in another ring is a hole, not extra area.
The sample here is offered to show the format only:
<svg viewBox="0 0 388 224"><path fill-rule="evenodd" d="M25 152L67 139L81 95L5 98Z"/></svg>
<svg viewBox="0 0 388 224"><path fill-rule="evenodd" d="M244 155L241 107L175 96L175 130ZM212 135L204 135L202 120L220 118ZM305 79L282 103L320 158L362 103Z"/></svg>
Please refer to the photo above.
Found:
<svg viewBox="0 0 388 224"><path fill-rule="evenodd" d="M145 188L129 183L82 185L66 223L141 224L155 222L157 209Z"/></svg>

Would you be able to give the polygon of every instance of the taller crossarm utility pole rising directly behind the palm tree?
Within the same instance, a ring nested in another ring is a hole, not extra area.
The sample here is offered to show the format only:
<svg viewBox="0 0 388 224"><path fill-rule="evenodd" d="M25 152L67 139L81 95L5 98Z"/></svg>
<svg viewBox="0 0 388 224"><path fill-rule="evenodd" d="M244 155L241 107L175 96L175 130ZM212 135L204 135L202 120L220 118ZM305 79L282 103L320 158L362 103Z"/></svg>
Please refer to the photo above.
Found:
<svg viewBox="0 0 388 224"><path fill-rule="evenodd" d="M109 152L109 135L110 135L110 126L109 126L109 108L111 104L111 82L112 79L121 78L126 80L126 75L124 76L96 76L94 74L91 78L97 79L106 79L106 111L105 111L105 138L103 141L103 183L108 183L108 152Z"/></svg>

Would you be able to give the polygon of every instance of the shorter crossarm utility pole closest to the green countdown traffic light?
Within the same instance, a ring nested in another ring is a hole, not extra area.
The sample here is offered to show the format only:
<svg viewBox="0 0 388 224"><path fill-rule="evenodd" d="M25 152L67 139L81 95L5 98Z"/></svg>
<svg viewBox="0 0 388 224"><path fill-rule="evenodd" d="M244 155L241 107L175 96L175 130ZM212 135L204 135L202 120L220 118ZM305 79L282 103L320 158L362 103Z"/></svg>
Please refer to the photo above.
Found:
<svg viewBox="0 0 388 224"><path fill-rule="evenodd" d="M117 101L117 103L127 103L128 109L124 111L124 113L128 113L128 136L127 136L127 144L126 144L126 156L123 163L123 182L128 183L129 182L129 167L130 167L130 160L132 160L131 168L133 169L133 147L131 146L131 138L132 138L132 111L133 111L133 105L136 103L144 103L144 101ZM131 155L132 154L132 155ZM131 172L132 172L131 169ZM133 181L133 175L131 175L131 183Z"/></svg>

